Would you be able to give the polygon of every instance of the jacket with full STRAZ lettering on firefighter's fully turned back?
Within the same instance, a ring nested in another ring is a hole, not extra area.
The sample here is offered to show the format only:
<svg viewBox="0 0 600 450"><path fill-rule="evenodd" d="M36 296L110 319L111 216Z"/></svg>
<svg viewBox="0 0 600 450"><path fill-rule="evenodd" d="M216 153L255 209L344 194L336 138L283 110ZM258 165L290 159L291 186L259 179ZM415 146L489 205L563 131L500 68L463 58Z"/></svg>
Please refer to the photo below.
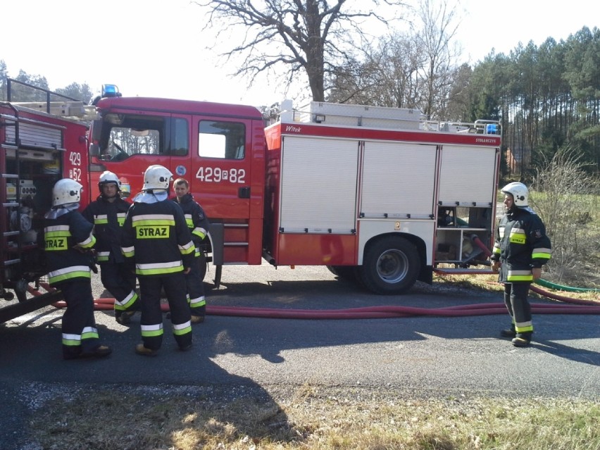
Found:
<svg viewBox="0 0 600 450"><path fill-rule="evenodd" d="M181 208L166 197L151 203L137 199L123 224L121 250L126 263L135 261L135 273L143 276L164 276L190 267L195 247Z"/></svg>

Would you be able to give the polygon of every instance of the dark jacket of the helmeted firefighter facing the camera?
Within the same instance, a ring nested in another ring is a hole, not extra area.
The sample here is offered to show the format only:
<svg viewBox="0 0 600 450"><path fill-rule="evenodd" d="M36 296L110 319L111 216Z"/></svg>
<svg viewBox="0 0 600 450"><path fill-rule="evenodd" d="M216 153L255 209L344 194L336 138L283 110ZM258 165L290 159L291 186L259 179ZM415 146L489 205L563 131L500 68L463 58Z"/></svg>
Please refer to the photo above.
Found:
<svg viewBox="0 0 600 450"><path fill-rule="evenodd" d="M123 263L125 258L121 253L121 232L125 215L130 204L116 196L114 201L107 201L104 196L98 196L96 201L83 210L82 215L94 224L96 237L96 261L99 263Z"/></svg>

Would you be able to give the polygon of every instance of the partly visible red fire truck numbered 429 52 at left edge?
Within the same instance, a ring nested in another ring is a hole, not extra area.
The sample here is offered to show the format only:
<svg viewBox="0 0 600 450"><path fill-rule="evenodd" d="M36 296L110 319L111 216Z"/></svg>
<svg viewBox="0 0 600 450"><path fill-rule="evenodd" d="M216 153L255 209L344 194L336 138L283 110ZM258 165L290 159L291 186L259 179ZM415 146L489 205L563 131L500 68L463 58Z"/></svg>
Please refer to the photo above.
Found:
<svg viewBox="0 0 600 450"><path fill-rule="evenodd" d="M8 79L8 101L0 101L0 323L61 299L60 292L28 293L37 293L47 272L42 230L54 183L79 181L86 187L81 206L89 203L89 123L80 119L95 115L73 99L11 102L15 82L48 99L54 94Z"/></svg>

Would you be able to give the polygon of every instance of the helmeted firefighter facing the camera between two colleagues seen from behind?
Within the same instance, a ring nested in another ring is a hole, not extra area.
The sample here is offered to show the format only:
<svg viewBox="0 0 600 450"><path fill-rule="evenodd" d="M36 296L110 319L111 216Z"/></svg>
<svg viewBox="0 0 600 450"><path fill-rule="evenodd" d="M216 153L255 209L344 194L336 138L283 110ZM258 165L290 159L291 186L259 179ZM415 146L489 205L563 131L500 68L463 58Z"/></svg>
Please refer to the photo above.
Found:
<svg viewBox="0 0 600 450"><path fill-rule="evenodd" d="M130 204L120 196L118 176L108 170L100 175L98 189L100 195L82 214L94 224L96 261L100 265L102 285L115 297L115 319L127 325L138 306L135 274L125 270L125 257L120 248L121 230Z"/></svg>

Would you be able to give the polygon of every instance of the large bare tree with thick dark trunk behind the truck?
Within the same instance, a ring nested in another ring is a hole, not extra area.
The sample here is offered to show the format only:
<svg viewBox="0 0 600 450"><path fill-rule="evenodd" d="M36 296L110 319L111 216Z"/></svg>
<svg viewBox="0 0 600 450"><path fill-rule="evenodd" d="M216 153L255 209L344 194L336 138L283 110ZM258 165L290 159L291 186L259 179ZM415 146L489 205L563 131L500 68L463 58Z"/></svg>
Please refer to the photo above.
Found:
<svg viewBox="0 0 600 450"><path fill-rule="evenodd" d="M380 6L390 13L404 6L401 0L201 0L207 8L206 27L216 27L217 37L232 28L244 28L241 42L232 44L225 56L244 56L235 75L249 77L287 65L287 85L299 73L306 73L314 101L324 101L327 74L344 61L352 60L352 50L365 42L364 25L377 21L386 25L396 17L385 18L375 11ZM351 4L360 4L353 8ZM368 39L367 39L368 40Z"/></svg>

